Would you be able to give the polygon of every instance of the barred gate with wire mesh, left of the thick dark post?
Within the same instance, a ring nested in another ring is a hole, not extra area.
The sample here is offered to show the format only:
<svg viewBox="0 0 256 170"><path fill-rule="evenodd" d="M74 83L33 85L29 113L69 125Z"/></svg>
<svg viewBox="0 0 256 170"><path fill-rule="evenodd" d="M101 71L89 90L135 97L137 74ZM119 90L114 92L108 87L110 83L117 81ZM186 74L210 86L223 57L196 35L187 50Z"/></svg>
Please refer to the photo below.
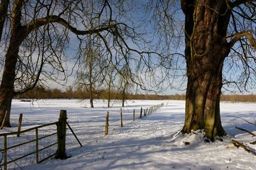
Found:
<svg viewBox="0 0 256 170"><path fill-rule="evenodd" d="M20 132L19 138L17 132L0 134L0 169L25 169L25 166L55 154L55 124L28 130Z"/></svg>

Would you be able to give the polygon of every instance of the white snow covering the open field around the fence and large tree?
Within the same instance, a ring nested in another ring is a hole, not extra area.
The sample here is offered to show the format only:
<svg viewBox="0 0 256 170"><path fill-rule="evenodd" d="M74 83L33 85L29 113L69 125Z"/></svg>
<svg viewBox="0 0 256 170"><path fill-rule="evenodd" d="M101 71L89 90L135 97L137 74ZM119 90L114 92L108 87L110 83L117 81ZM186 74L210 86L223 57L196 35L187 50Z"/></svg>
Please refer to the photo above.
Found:
<svg viewBox="0 0 256 170"><path fill-rule="evenodd" d="M132 122L133 109L138 117L141 106L149 108L161 103L164 106L159 110ZM115 103L112 108L105 108L106 103L96 101L95 108L91 109L84 108L89 106L88 101L44 100L32 104L15 99L11 113L13 127L7 131L17 129L19 113L24 114L22 129L26 129L26 126L57 121L60 110L84 113L88 120L99 118L97 124L104 127L106 111L111 115L110 124L111 118L117 122L120 105ZM254 123L256 104L221 103L221 121L229 137L214 143L205 143L204 136L198 132L177 135L184 124L184 107L184 101L127 101L127 106L122 108L124 127L116 124L108 136L102 135L97 142L69 151L70 159L50 159L25 169L255 169L256 157L243 148L237 149L230 140L234 138L256 150L255 145L249 144L256 138L235 129L237 126L256 133L255 125L236 118Z"/></svg>

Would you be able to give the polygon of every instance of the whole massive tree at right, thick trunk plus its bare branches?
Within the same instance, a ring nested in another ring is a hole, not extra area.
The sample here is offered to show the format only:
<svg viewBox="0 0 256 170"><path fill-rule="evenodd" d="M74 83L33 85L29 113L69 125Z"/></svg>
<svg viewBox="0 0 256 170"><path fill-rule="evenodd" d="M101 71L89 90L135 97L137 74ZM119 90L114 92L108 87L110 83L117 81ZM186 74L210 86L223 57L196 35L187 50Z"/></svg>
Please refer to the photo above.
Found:
<svg viewBox="0 0 256 170"><path fill-rule="evenodd" d="M182 132L204 129L212 140L224 136L221 89L255 87L256 1L160 0L147 6L154 9L157 34L164 34L170 46L182 50L172 42L180 45L180 38L185 37L187 88ZM184 27L179 31L177 22L183 17ZM171 59L175 58L177 55ZM172 70L177 71L177 67Z"/></svg>

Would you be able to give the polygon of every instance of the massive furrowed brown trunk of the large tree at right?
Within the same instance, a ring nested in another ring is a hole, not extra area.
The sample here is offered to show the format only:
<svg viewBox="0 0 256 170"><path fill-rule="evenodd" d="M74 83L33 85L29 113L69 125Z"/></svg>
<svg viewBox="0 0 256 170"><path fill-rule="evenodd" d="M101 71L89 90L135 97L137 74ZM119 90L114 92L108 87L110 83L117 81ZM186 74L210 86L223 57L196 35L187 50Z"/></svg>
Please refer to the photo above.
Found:
<svg viewBox="0 0 256 170"><path fill-rule="evenodd" d="M226 41L230 11L225 1L182 1L186 15L188 85L182 132L204 129L205 136L224 136L220 119L222 69L230 52Z"/></svg>

